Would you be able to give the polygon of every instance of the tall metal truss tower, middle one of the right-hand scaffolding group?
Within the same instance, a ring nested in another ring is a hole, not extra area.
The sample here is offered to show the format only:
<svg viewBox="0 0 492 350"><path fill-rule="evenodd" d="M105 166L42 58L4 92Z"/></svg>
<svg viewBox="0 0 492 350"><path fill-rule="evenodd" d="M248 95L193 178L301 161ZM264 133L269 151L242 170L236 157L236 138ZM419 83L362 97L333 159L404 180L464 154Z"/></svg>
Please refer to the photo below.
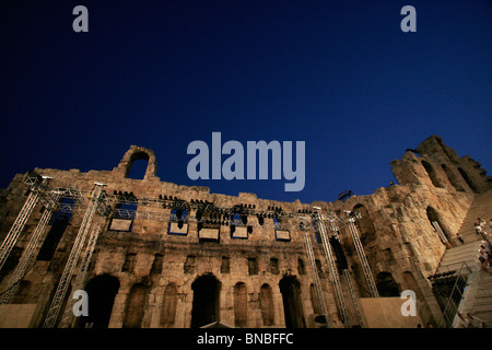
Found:
<svg viewBox="0 0 492 350"><path fill-rule="evenodd" d="M335 287L335 295L337 298L337 305L340 311L340 316L341 316L341 319L342 319L344 326L350 327L349 312L347 310L345 301L343 298L343 291L342 291L342 288L340 284L340 279L338 276L337 266L335 264L333 254L331 252L331 247L329 246L328 234L326 232L325 221L324 221L323 214L320 213L320 208L315 207L314 209L316 209L314 220L315 220L315 224L318 229L318 232L319 232L319 235L321 238L321 244L323 244L323 248L325 252L326 260L328 262L331 282L333 283L333 287Z"/></svg>

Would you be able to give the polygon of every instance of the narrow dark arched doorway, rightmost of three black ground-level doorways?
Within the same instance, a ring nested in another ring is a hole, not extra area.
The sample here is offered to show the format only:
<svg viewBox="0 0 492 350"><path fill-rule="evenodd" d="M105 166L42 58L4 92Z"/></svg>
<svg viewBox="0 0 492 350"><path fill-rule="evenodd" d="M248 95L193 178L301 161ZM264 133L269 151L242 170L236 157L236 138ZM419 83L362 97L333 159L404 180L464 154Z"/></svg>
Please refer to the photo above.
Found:
<svg viewBox="0 0 492 350"><path fill-rule="evenodd" d="M301 285L293 276L284 276L280 282L283 300L283 312L286 328L305 328L303 304L301 301Z"/></svg>

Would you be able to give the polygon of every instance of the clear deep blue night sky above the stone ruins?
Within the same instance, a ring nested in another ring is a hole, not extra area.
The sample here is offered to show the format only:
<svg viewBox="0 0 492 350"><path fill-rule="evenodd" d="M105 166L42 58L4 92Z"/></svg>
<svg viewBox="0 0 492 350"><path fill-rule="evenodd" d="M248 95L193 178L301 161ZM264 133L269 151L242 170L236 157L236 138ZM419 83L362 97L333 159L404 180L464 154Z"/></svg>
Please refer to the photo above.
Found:
<svg viewBox="0 0 492 350"><path fill-rule="evenodd" d="M0 187L34 167L110 171L130 144L154 150L162 180L286 201L370 195L431 135L492 170L491 1L1 1L0 83ZM212 131L305 141L304 190L190 180L187 145Z"/></svg>

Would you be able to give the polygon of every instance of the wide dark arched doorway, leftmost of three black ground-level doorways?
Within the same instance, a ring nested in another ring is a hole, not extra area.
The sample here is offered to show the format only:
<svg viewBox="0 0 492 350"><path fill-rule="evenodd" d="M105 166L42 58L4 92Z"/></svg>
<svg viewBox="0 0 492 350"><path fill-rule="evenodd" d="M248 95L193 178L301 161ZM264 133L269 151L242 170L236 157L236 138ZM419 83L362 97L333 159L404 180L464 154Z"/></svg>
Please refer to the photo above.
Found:
<svg viewBox="0 0 492 350"><path fill-rule="evenodd" d="M107 328L112 317L119 281L116 277L102 275L85 284L89 296L89 316L81 316L79 327Z"/></svg>

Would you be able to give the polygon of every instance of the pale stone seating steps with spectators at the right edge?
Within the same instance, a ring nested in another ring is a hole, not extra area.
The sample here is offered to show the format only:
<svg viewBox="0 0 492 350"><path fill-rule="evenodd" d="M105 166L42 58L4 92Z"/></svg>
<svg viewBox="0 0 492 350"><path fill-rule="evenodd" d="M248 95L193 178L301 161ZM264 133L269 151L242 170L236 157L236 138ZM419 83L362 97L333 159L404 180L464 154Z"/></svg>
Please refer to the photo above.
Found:
<svg viewBox="0 0 492 350"><path fill-rule="evenodd" d="M480 245L484 244L485 241L475 232L473 223L477 222L477 218L487 221L484 230L492 238L492 230L489 228L489 220L492 218L492 190L476 195L459 230L465 244L445 252L436 273L459 270L462 262L466 262L470 273L458 310L465 315L471 313L484 320L485 327L492 328L492 273L480 271L479 250ZM457 317L455 324L456 322Z"/></svg>

